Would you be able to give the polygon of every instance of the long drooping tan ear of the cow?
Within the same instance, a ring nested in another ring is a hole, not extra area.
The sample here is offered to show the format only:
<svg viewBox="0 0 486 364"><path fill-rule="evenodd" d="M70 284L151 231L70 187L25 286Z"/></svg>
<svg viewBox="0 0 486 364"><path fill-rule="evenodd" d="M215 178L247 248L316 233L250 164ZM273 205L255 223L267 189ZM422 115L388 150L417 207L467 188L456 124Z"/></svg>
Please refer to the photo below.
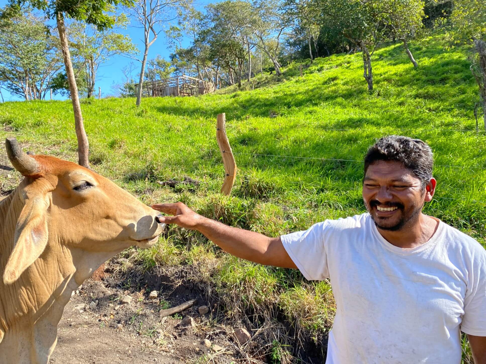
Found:
<svg viewBox="0 0 486 364"><path fill-rule="evenodd" d="M47 245L47 196L25 199L25 205L17 219L14 248L3 272L3 282L11 284L42 254Z"/></svg>

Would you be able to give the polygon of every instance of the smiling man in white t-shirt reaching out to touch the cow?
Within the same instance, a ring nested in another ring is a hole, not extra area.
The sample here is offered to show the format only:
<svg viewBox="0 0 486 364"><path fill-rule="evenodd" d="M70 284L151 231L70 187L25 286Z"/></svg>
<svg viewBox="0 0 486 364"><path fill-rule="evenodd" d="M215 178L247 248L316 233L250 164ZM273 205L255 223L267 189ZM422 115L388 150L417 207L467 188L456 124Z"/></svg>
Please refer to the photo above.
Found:
<svg viewBox="0 0 486 364"><path fill-rule="evenodd" d="M364 158L368 213L326 220L269 238L192 212L182 203L154 209L202 232L230 254L330 279L336 317L328 364L459 364L460 331L475 364L486 364L486 251L474 239L422 213L436 181L421 140L389 136Z"/></svg>

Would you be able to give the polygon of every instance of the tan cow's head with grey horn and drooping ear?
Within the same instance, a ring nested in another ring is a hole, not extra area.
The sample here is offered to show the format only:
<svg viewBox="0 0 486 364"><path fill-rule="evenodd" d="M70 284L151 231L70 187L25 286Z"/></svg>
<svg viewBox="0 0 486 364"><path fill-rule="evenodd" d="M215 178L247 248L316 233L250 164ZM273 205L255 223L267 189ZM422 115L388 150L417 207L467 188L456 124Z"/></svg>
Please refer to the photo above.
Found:
<svg viewBox="0 0 486 364"><path fill-rule="evenodd" d="M163 231L155 210L97 173L58 158L27 155L15 138L6 140L6 149L25 179L17 189L21 211L5 284L16 281L48 248L87 262L76 267L86 271L86 279L96 269L89 264L96 256L91 253L106 260L132 245L148 248Z"/></svg>

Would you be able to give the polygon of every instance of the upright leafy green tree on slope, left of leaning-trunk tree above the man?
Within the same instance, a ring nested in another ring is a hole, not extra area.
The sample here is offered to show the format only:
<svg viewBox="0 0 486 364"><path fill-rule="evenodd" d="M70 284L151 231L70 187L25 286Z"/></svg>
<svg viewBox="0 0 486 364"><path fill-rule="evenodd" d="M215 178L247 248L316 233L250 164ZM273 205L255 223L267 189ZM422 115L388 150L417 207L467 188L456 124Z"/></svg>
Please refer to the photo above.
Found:
<svg viewBox="0 0 486 364"><path fill-rule="evenodd" d="M363 52L363 76L368 90L373 90L371 56L385 39L383 17L392 10L376 0L322 0L321 9L321 21L332 24Z"/></svg>

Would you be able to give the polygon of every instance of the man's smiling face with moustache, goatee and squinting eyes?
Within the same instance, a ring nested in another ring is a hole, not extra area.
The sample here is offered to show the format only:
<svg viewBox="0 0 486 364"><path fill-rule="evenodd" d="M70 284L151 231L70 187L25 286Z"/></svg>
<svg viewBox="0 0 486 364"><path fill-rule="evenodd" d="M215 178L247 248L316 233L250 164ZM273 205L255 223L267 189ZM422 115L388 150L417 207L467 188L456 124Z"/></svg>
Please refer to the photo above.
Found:
<svg viewBox="0 0 486 364"><path fill-rule="evenodd" d="M434 195L435 180L427 189L414 173L396 161L377 161L364 176L363 200L378 228L398 231L420 215Z"/></svg>

